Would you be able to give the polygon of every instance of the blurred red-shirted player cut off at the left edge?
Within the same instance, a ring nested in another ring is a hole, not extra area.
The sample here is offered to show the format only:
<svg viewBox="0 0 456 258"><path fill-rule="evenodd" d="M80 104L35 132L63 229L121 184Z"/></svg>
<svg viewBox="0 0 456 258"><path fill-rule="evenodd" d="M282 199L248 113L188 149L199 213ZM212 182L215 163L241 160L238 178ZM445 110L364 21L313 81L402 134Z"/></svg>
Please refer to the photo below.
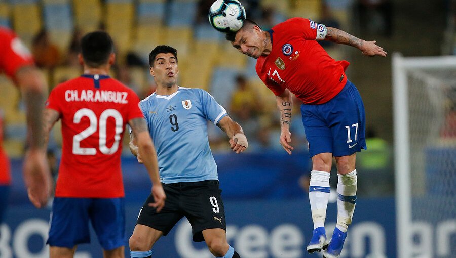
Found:
<svg viewBox="0 0 456 258"><path fill-rule="evenodd" d="M30 201L35 207L41 208L46 206L52 191L46 148L41 138L47 85L43 74L35 67L29 50L13 31L5 27L0 27L0 72L14 80L26 104L28 146L23 176ZM2 120L0 118L0 143L3 139ZM10 184L10 162L0 148L0 223L7 206Z"/></svg>

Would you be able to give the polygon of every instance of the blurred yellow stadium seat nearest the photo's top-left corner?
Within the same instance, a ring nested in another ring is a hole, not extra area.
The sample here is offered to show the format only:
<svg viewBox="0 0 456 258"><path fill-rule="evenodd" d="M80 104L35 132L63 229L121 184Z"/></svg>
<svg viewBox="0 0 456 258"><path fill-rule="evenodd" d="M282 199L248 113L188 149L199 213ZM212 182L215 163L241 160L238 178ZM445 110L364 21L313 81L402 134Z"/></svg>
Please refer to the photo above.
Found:
<svg viewBox="0 0 456 258"><path fill-rule="evenodd" d="M42 27L41 9L38 3L18 3L13 9L13 28L27 47Z"/></svg>

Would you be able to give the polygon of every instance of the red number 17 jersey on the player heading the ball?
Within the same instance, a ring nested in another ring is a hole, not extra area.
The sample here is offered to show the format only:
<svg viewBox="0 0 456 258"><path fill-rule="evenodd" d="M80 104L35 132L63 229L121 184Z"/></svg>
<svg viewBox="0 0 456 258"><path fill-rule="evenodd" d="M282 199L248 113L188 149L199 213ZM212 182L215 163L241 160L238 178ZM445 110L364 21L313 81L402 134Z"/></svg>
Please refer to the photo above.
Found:
<svg viewBox="0 0 456 258"><path fill-rule="evenodd" d="M256 73L264 84L281 95L290 90L306 104L323 104L336 96L347 81L349 62L335 61L316 41L326 27L312 20L292 18L270 30L272 51L260 56Z"/></svg>

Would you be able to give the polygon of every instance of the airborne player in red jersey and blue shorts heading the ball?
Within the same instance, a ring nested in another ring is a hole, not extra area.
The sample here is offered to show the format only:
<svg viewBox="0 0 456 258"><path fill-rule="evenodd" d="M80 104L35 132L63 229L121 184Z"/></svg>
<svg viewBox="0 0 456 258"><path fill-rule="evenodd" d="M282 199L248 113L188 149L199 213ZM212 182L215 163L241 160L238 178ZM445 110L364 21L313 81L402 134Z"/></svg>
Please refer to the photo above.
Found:
<svg viewBox="0 0 456 258"><path fill-rule="evenodd" d="M345 74L349 63L332 59L316 40L356 47L365 56L385 57L387 53L376 41L364 41L304 18L291 18L269 31L247 19L241 29L227 33L226 39L242 54L257 59L258 76L277 97L280 143L288 154L293 150L289 145L291 94L303 102L302 122L312 158L309 200L314 222L307 250L324 249L325 257L339 257L355 209L356 152L366 149L364 106ZM333 156L338 174L337 224L328 246L324 222Z"/></svg>

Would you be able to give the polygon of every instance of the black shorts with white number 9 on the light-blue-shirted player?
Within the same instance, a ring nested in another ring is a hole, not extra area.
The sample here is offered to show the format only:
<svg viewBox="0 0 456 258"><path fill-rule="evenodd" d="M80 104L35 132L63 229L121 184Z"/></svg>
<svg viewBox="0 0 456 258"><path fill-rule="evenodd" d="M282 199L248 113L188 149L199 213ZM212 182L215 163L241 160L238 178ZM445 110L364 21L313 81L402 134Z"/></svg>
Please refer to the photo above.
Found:
<svg viewBox="0 0 456 258"><path fill-rule="evenodd" d="M165 207L157 213L149 207L154 197L149 195L139 211L136 224L163 232L166 236L176 223L186 217L192 225L193 241L204 241L203 230L221 228L226 231L225 210L218 180L163 184Z"/></svg>

